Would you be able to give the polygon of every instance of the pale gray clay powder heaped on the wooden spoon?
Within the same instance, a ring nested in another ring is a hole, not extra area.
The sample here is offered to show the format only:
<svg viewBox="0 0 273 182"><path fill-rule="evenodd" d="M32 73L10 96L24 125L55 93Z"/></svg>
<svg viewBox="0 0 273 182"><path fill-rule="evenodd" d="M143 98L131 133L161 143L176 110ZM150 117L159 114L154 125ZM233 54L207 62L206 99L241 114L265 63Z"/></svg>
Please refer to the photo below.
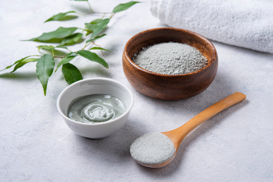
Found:
<svg viewBox="0 0 273 182"><path fill-rule="evenodd" d="M169 160L175 153L172 141L162 133L146 133L137 138L130 147L131 156L145 164L159 164Z"/></svg>

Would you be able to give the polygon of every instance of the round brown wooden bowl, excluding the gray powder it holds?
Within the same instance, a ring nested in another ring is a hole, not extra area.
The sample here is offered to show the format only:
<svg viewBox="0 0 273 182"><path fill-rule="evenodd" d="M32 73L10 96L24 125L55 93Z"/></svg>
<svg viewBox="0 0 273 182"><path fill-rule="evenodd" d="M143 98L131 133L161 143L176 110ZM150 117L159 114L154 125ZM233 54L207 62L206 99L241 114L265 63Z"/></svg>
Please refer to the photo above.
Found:
<svg viewBox="0 0 273 182"><path fill-rule="evenodd" d="M208 65L187 74L167 75L145 70L132 61L143 47L170 41L196 48L207 58ZM155 28L140 32L126 43L123 52L123 70L128 81L140 93L157 99L187 99L203 92L215 78L217 68L218 57L213 44L198 33L184 29Z"/></svg>

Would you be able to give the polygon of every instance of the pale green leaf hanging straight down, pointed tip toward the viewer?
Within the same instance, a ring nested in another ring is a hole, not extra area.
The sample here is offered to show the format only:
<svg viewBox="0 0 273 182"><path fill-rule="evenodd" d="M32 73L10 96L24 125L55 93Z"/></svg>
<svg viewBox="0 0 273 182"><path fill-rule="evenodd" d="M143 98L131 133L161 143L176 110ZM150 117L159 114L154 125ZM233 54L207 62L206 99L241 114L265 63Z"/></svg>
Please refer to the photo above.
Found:
<svg viewBox="0 0 273 182"><path fill-rule="evenodd" d="M37 60L36 75L42 83L45 96L47 93L48 79L53 73L54 65L55 61L53 57L49 54L46 54Z"/></svg>

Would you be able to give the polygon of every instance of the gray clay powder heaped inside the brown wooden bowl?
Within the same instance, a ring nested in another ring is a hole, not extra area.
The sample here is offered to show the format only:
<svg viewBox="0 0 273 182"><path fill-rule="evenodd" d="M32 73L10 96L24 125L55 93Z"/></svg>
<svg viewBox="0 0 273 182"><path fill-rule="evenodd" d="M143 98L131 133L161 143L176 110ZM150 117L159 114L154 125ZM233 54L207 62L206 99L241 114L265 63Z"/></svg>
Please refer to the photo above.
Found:
<svg viewBox="0 0 273 182"><path fill-rule="evenodd" d="M197 71L208 64L197 49L185 43L165 42L143 48L133 61L155 73L178 75Z"/></svg>

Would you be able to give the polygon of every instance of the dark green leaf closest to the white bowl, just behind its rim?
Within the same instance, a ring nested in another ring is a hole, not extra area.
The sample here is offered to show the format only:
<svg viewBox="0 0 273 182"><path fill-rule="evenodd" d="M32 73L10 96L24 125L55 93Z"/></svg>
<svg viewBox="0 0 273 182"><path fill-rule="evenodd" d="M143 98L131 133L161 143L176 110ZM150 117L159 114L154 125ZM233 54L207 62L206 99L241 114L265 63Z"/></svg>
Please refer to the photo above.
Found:
<svg viewBox="0 0 273 182"><path fill-rule="evenodd" d="M65 81L68 84L72 84L76 81L83 79L83 76L80 70L70 63L66 63L62 66L62 73L63 73Z"/></svg>

